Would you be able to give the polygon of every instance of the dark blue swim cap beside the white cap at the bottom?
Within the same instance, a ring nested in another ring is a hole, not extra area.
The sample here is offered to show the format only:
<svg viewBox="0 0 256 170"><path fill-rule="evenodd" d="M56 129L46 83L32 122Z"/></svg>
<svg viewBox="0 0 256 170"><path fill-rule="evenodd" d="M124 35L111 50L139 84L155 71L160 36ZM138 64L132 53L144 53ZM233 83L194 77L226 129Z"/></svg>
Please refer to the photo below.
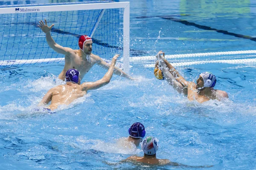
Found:
<svg viewBox="0 0 256 170"><path fill-rule="evenodd" d="M143 139L146 134L145 127L140 122L132 124L128 132L131 137L141 139Z"/></svg>

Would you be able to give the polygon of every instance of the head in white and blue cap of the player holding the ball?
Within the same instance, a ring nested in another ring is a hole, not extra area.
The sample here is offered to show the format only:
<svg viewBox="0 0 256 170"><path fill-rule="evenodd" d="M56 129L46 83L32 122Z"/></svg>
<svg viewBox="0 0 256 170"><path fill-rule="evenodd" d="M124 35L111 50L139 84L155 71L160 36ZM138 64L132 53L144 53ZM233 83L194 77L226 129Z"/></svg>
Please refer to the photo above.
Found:
<svg viewBox="0 0 256 170"><path fill-rule="evenodd" d="M201 73L196 82L198 90L203 88L213 88L216 84L216 77L211 72L207 71Z"/></svg>

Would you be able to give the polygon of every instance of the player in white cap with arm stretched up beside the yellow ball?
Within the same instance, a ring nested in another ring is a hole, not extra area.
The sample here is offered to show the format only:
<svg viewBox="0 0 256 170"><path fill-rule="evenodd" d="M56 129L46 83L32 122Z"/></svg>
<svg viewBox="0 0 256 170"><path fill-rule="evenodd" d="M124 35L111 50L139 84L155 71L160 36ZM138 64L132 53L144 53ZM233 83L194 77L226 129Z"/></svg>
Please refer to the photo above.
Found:
<svg viewBox="0 0 256 170"><path fill-rule="evenodd" d="M161 56L163 54L163 56ZM164 58L163 51L157 53L157 59L161 68L155 68L157 79L166 79L179 93L188 96L190 101L196 100L199 103L206 102L210 99L221 100L228 98L227 92L215 90L216 77L211 72L201 73L199 78L194 82L188 82L177 70ZM160 70L159 70L160 69ZM163 75L162 75L163 74Z"/></svg>

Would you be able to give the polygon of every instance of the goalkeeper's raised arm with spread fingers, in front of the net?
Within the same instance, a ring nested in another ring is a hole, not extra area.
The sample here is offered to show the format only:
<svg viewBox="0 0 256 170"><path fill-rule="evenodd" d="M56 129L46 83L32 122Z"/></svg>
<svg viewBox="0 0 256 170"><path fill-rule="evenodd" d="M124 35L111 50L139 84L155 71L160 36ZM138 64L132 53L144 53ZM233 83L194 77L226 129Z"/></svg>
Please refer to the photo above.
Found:
<svg viewBox="0 0 256 170"><path fill-rule="evenodd" d="M60 53L60 54L64 54L64 55L67 55L68 52L70 50L72 50L71 48L67 48L67 47L62 47L61 45L58 45L53 39L52 39L52 36L51 36L51 29L52 27L54 26L54 24L52 24L51 26L47 26L47 20L44 19L45 23L41 20L39 21L39 24L38 27L41 28L41 30L45 33L46 35L46 40L47 40L47 43L49 45L50 48L52 48L54 51L56 51L57 53Z"/></svg>

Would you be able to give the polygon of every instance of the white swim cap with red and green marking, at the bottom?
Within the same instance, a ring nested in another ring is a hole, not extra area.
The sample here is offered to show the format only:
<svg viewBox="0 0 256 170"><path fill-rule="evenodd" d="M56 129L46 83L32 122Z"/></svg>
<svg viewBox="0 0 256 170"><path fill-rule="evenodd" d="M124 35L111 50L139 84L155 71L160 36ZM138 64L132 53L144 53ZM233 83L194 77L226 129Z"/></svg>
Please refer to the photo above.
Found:
<svg viewBox="0 0 256 170"><path fill-rule="evenodd" d="M141 149L146 155L156 154L158 150L156 139L152 136L146 137L141 144Z"/></svg>

